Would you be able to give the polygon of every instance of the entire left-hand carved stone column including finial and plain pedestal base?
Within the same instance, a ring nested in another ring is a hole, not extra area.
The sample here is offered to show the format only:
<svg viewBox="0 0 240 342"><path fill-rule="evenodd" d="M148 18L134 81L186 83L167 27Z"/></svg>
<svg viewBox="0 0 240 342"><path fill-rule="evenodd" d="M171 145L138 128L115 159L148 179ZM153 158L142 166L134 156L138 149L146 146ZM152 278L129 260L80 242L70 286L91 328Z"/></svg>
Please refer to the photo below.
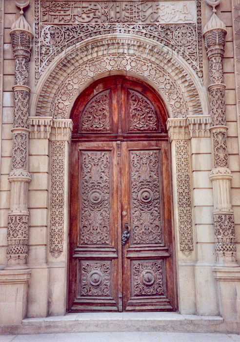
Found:
<svg viewBox="0 0 240 342"><path fill-rule="evenodd" d="M19 324L26 315L27 283L30 270L26 266L28 250L28 62L33 33L23 16L22 8L29 4L16 4L21 8L19 19L12 25L10 36L15 58L14 122L12 171L10 182L10 210L7 230L7 267L0 271L0 324Z"/></svg>

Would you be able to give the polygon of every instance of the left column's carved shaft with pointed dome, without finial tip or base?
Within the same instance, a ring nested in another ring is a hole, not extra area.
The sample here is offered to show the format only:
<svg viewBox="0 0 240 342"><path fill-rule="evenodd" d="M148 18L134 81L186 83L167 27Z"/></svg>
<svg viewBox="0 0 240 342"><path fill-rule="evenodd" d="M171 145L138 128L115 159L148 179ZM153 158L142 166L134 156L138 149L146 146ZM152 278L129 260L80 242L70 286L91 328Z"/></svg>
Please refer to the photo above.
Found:
<svg viewBox="0 0 240 342"><path fill-rule="evenodd" d="M10 182L10 210L7 231L8 268L24 267L28 243L28 62L31 54L32 31L23 15L13 24L11 31L15 58L14 120L12 171ZM21 266L20 266L21 265Z"/></svg>

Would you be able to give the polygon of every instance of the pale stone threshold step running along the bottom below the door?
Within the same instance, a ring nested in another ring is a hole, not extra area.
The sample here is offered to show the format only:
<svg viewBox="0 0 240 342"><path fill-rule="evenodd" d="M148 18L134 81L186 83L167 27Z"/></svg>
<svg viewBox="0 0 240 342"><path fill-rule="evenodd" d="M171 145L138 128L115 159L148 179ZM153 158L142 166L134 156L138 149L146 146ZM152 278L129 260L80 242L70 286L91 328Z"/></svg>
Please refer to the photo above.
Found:
<svg viewBox="0 0 240 342"><path fill-rule="evenodd" d="M236 333L240 331L240 322L224 322L219 316L181 315L178 312L88 312L27 318L20 325L0 326L2 334L118 331Z"/></svg>

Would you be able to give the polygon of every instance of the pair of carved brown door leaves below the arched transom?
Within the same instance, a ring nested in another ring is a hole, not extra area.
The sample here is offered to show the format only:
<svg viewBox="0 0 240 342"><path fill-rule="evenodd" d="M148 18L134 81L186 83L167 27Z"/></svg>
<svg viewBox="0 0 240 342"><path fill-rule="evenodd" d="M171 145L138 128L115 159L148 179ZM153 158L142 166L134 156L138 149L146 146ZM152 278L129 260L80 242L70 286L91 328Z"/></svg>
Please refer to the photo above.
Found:
<svg viewBox="0 0 240 342"><path fill-rule="evenodd" d="M175 310L169 143L71 144L69 311Z"/></svg>

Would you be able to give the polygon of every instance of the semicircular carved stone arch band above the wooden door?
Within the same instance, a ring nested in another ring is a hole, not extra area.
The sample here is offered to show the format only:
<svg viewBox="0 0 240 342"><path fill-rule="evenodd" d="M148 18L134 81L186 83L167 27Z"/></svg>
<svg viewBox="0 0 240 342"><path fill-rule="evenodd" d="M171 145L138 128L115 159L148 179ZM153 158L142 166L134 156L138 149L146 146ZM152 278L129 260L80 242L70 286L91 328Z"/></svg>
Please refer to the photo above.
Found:
<svg viewBox="0 0 240 342"><path fill-rule="evenodd" d="M125 72L149 82L169 117L207 115L207 99L194 70L174 51L133 35L106 35L70 47L42 75L31 113L68 118L79 93L96 78Z"/></svg>

